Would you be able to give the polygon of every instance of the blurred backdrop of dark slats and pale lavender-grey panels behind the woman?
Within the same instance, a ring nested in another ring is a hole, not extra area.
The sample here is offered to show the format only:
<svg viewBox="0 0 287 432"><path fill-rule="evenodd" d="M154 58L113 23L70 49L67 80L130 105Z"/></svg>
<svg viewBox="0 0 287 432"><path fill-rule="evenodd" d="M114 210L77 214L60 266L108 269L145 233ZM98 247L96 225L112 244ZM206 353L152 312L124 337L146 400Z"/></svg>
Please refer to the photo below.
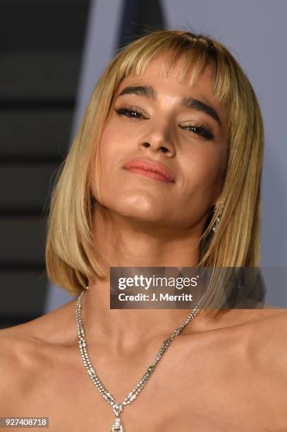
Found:
<svg viewBox="0 0 287 432"><path fill-rule="evenodd" d="M47 280L45 219L92 89L115 50L178 28L226 44L264 117L262 268L286 302L285 0L0 0L0 328L73 299ZM285 303L284 303L285 302Z"/></svg>

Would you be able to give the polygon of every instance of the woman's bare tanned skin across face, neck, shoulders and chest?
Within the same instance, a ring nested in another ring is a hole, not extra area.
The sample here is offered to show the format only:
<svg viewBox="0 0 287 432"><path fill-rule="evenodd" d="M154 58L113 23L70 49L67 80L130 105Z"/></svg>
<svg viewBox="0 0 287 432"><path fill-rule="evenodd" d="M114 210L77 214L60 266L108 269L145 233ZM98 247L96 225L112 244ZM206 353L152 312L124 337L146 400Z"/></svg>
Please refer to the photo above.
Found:
<svg viewBox="0 0 287 432"><path fill-rule="evenodd" d="M99 186L105 216L96 210L93 234L106 270L196 266L204 223L221 198L228 128L224 108L212 94L210 69L190 88L177 80L181 60L168 78L159 74L160 65L157 59L141 76L123 80L102 135ZM152 86L157 99L120 95L131 86ZM209 105L219 121L179 106L182 97ZM115 111L127 107L141 116ZM188 128L196 125L209 133L200 136ZM210 134L214 138L207 139ZM123 169L135 157L166 164L175 182ZM99 198L97 186L94 181ZM190 310L110 310L109 280L89 280L89 287L82 313L87 350L102 383L123 402ZM286 316L285 310L238 309L210 318L200 311L124 408L124 430L287 431ZM111 406L80 358L75 300L1 330L0 416L49 416L49 430L55 432L110 430Z"/></svg>

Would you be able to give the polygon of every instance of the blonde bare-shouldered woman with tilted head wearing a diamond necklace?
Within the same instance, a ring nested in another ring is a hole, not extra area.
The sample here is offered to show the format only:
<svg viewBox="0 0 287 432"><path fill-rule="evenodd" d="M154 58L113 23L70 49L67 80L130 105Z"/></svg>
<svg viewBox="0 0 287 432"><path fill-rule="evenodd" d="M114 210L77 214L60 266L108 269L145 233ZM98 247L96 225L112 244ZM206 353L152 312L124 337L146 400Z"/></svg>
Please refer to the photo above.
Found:
<svg viewBox="0 0 287 432"><path fill-rule="evenodd" d="M263 140L252 86L221 43L165 30L116 55L48 220L49 278L83 293L82 308L77 297L1 330L1 416L47 416L51 431L287 431L286 311L224 310L211 286L123 404L190 311L109 308L110 267L258 265Z"/></svg>

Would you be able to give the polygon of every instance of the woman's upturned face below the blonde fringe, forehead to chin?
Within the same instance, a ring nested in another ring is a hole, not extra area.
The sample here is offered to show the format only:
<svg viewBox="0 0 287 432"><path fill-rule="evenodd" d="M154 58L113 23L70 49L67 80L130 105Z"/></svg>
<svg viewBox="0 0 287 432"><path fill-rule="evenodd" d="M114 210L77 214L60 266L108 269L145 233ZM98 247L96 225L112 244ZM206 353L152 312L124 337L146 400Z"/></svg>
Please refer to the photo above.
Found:
<svg viewBox="0 0 287 432"><path fill-rule="evenodd" d="M100 142L101 203L134 222L197 227L201 234L221 189L226 113L212 93L208 66L193 88L177 80L181 60L168 78L160 66L161 59L152 61L142 75L123 79L116 92ZM139 158L164 164L173 181L124 168ZM96 191L93 184L98 198Z"/></svg>

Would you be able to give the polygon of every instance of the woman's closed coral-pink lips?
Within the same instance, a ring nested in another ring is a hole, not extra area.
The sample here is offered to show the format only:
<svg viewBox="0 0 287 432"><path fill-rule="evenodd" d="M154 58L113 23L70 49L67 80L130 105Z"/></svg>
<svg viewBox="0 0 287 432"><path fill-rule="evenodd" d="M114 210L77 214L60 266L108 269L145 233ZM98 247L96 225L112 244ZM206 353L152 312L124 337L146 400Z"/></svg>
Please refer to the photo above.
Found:
<svg viewBox="0 0 287 432"><path fill-rule="evenodd" d="M142 172L142 174L151 174L152 178L157 180L169 181L175 183L173 174L171 171L160 162L154 162L153 160L145 159L145 158L137 158L126 162L123 166L124 169L135 170L135 172ZM152 175L152 173L156 173L157 175Z"/></svg>

